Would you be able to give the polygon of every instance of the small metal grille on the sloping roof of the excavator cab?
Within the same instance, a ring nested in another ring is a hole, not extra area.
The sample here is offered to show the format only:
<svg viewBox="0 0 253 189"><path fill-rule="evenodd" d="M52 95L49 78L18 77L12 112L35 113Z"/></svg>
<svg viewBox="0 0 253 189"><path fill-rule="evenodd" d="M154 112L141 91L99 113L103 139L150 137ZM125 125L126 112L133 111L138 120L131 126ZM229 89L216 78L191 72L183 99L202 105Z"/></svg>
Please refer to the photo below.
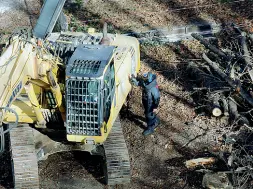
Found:
<svg viewBox="0 0 253 189"><path fill-rule="evenodd" d="M101 61L75 60L71 74L97 74Z"/></svg>

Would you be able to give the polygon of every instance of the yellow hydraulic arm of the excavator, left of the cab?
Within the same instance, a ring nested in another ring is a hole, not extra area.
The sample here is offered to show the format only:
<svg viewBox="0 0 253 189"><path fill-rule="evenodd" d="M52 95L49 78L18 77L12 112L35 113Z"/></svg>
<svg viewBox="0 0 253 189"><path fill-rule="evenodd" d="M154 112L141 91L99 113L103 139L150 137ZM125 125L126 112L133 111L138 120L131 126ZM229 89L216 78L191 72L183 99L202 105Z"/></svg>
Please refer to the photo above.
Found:
<svg viewBox="0 0 253 189"><path fill-rule="evenodd" d="M56 105L62 108L62 94L57 83L57 59L51 56L41 42L34 39L12 38L12 43L0 57L0 107L10 107L21 93L27 95L37 118L36 125L43 127L46 121L41 111L41 101L34 86L51 90ZM38 45L38 44L40 45ZM1 121L4 119L2 114Z"/></svg>

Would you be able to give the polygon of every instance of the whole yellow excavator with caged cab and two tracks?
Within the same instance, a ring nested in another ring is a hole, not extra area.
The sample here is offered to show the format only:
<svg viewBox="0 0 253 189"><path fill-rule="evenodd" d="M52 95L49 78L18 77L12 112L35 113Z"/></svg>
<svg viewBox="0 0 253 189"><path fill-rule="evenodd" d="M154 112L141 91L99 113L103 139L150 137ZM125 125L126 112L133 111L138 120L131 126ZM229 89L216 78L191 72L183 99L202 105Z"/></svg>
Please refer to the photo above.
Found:
<svg viewBox="0 0 253 189"><path fill-rule="evenodd" d="M39 188L38 161L72 150L103 155L106 184L130 182L119 112L140 70L139 42L106 24L53 33L64 3L45 1L35 28L0 49L0 150L8 134L15 188Z"/></svg>

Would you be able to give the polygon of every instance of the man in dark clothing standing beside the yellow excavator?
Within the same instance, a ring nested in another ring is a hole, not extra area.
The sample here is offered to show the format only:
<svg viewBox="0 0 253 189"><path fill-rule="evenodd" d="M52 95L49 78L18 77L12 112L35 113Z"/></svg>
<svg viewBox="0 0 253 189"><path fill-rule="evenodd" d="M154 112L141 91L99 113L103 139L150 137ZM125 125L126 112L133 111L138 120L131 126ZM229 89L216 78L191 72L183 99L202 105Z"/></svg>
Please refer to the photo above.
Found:
<svg viewBox="0 0 253 189"><path fill-rule="evenodd" d="M159 125L157 118L157 108L160 102L160 91L156 81L156 75L151 72L143 74L142 78L131 77L132 84L142 87L142 104L145 109L147 129L143 132L144 136L150 135Z"/></svg>

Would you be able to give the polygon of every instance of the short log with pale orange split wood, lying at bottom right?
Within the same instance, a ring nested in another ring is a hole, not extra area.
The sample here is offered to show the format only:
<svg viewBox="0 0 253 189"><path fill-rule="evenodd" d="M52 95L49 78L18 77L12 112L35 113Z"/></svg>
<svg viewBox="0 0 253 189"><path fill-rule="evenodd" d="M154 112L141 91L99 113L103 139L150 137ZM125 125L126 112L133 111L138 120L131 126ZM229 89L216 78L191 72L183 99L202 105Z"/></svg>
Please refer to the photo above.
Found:
<svg viewBox="0 0 253 189"><path fill-rule="evenodd" d="M216 162L216 159L214 157L205 157L205 158L197 158L197 159L191 159L185 162L185 166L188 169L193 169L198 166L205 166L205 165L212 165Z"/></svg>

